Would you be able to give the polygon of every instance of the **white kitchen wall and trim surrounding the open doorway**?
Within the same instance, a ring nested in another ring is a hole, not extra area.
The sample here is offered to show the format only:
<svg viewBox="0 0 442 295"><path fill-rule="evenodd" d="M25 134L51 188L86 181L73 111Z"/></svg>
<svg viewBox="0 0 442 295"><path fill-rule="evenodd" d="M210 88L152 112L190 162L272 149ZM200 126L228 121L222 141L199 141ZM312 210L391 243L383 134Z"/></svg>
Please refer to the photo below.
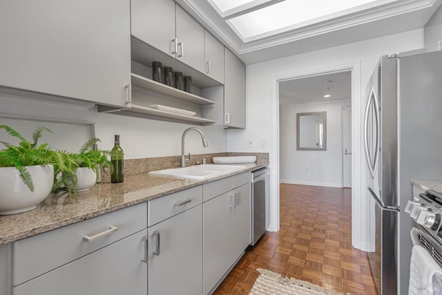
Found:
<svg viewBox="0 0 442 295"><path fill-rule="evenodd" d="M423 47L423 29L412 30L376 39L369 39L343 46L336 46L302 55L265 61L247 66L247 129L229 131L229 151L269 152L271 163L271 204L269 230L279 228L279 185L278 185L278 79L299 75L321 73L332 68L354 68L353 77L353 244L360 249L369 249L369 225L367 220L368 196L365 184L361 184L361 165L365 165L362 151L363 108L365 108L365 86L379 57L387 53L398 53ZM354 65L354 66L352 66ZM362 97L361 99L359 97ZM247 140L259 142L265 139L267 145L261 148L255 144L248 148ZM358 149L355 149L355 148ZM362 190L363 188L363 190Z"/></svg>

